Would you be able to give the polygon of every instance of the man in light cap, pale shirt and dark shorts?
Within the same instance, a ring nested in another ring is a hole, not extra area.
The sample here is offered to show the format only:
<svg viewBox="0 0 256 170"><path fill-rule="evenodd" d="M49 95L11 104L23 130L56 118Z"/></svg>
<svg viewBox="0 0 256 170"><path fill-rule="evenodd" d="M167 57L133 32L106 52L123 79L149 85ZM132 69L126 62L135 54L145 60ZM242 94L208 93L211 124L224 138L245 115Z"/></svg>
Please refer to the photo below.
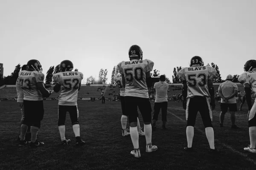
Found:
<svg viewBox="0 0 256 170"><path fill-rule="evenodd" d="M233 76L228 75L226 82L221 83L218 88L218 94L221 96L221 114L220 114L220 127L223 127L225 113L229 108L230 111L230 119L232 122L231 128L239 129L236 126L236 116L235 113L237 111L236 107L236 94L237 94L237 85L232 82Z"/></svg>

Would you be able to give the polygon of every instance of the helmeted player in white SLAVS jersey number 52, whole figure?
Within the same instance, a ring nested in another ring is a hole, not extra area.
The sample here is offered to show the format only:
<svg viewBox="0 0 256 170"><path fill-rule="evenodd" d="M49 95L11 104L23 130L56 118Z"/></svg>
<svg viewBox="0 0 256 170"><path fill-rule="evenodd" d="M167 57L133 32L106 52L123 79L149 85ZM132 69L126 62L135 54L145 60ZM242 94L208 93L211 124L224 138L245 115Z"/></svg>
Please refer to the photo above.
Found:
<svg viewBox="0 0 256 170"><path fill-rule="evenodd" d="M76 137L76 145L83 145L85 142L80 138L80 126L78 122L79 111L77 108L77 95L81 87L83 74L79 71L72 71L73 63L70 60L64 60L60 64L60 71L52 76L56 83L53 90L58 93L58 129L61 135L61 144L69 144L70 139L65 138L65 120L66 113L69 112L73 125L73 131Z"/></svg>

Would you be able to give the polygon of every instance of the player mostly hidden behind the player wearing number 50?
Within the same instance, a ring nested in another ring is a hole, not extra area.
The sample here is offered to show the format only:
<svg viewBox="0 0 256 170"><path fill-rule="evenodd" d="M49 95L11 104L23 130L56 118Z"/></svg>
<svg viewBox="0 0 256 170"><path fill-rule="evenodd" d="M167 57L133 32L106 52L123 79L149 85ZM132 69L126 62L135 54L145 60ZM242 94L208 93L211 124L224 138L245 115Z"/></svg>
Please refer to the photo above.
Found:
<svg viewBox="0 0 256 170"><path fill-rule="evenodd" d="M128 136L130 133L126 129L127 125L127 116L129 115L128 112L125 110L125 88L122 85L122 74L116 75L116 84L120 89L120 99L121 99L121 108L122 108L122 117L121 117L121 125L122 125L122 136ZM140 136L145 136L145 133L140 128L140 121L139 121L139 113L137 111L137 129Z"/></svg>

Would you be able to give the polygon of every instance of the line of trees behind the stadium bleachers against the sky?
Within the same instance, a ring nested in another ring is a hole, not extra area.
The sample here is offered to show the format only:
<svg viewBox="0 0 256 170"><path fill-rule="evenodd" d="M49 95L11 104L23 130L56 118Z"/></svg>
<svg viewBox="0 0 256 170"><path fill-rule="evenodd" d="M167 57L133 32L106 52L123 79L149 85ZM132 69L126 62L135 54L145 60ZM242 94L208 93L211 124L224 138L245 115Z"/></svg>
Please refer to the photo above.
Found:
<svg viewBox="0 0 256 170"><path fill-rule="evenodd" d="M207 65L209 65L209 63ZM45 83L46 84L53 84L54 83L52 81L52 76L53 76L53 74L56 74L56 73L60 72L60 67L59 66L60 65L56 65L55 67L50 66L50 68L47 71L46 77L45 77ZM211 66L213 68L215 68L216 71L217 71L216 77L213 79L213 82L224 82L225 80L221 79L221 74L220 74L218 65L216 65L215 63L212 62ZM181 83L181 81L180 81L180 79L177 75L177 73L181 69L182 69L181 66L180 67L175 67L173 69L172 83ZM7 77L3 77L3 79L0 79L0 86L2 86L2 85L15 85L16 80L18 78L18 73L20 72L20 70L21 70L20 64L16 65L15 69L11 73L11 75L9 75ZM75 69L75 71L78 71L78 69ZM111 80L110 80L111 84L116 84L116 80L115 80L116 74L119 74L119 70L118 70L117 66L114 66L113 70L112 70L112 73L111 73ZM87 77L86 84L87 85L90 85L90 84L107 84L107 81L108 81L107 75L108 75L108 70L102 68L99 71L99 75L98 75L97 79L96 79L96 77L93 77L93 76ZM163 74L163 75L165 75L165 74ZM154 69L153 73L151 73L151 76L152 77L159 77L160 76L160 71L158 71L157 69ZM239 75L237 75L237 74L233 75L233 82L238 82L238 77L239 77ZM166 82L171 83L171 80L168 77L166 77Z"/></svg>

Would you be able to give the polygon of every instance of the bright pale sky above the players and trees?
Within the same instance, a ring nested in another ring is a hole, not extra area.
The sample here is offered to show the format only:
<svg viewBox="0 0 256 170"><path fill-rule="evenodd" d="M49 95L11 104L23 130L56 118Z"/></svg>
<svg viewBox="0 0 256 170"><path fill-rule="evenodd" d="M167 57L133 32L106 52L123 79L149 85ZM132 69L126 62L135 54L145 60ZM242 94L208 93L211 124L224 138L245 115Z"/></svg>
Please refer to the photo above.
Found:
<svg viewBox="0 0 256 170"><path fill-rule="evenodd" d="M84 79L129 60L137 44L154 69L172 79L198 55L222 79L256 59L256 0L0 0L0 63L4 76L38 59L69 59Z"/></svg>

